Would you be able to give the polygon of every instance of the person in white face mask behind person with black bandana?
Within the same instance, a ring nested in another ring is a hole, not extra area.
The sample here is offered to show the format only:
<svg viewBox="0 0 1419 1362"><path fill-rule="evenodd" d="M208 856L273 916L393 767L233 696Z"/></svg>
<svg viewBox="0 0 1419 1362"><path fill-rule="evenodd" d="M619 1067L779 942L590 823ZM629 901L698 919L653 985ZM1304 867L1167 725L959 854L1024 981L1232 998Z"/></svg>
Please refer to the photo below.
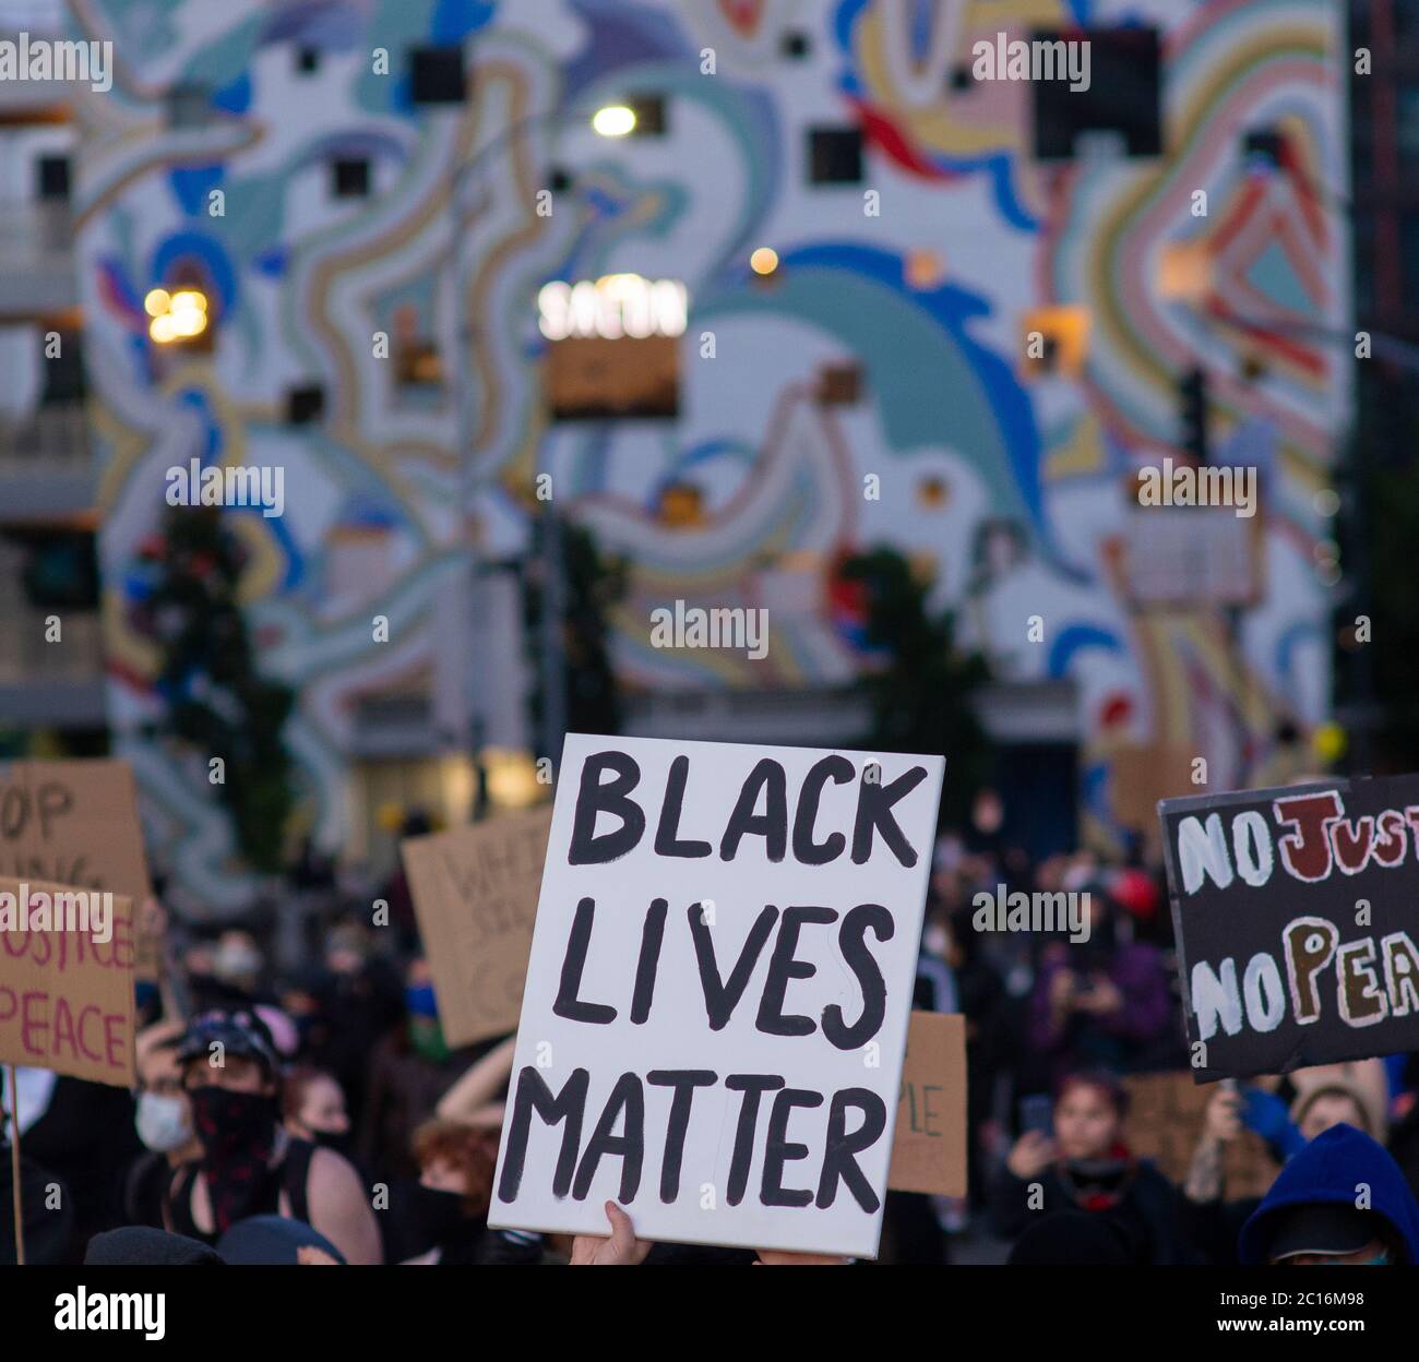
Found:
<svg viewBox="0 0 1419 1362"><path fill-rule="evenodd" d="M192 1125L192 1104L177 1063L180 1022L159 1022L136 1037L138 1111L133 1125L143 1142L123 1176L122 1222L163 1227L163 1202L173 1170L201 1158Z"/></svg>

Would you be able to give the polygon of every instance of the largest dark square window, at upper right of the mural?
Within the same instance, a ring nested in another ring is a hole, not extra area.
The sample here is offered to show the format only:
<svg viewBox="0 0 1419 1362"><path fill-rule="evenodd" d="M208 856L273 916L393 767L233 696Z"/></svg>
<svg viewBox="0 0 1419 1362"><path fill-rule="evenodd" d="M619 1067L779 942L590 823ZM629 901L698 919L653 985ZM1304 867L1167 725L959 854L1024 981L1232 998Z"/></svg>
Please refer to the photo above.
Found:
<svg viewBox="0 0 1419 1362"><path fill-rule="evenodd" d="M1112 132L1130 156L1162 152L1161 71L1156 28L1067 28L1036 31L1034 43L1088 43L1088 89L1070 89L1066 74L1030 82L1034 96L1034 155L1069 160L1084 133Z"/></svg>

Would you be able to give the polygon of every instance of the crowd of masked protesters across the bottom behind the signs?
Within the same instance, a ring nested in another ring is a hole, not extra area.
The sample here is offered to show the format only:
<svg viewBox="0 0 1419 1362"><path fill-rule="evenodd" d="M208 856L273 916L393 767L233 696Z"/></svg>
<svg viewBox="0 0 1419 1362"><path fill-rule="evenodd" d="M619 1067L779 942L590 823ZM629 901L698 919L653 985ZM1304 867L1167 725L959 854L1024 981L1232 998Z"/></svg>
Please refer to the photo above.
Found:
<svg viewBox="0 0 1419 1362"><path fill-rule="evenodd" d="M805 1261L648 1244L614 1205L604 1239L490 1229L511 1037L446 1044L400 875L372 925L302 865L298 892L325 911L294 963L274 932L201 934L146 905L167 969L139 989L135 1092L18 1071L28 1261ZM1087 939L979 929L976 897L1000 885L1077 895ZM880 1261L981 1260L982 1244L1019 1264L1419 1261L1405 1057L1215 1085L1179 1180L1130 1149L1125 1078L1188 1067L1156 871L942 837L915 1006L966 1019L969 1195L888 1193ZM1280 1169L1263 1197L1227 1187L1244 1135ZM6 1200L10 1178L7 1153ZM0 1261L14 1256L7 1226Z"/></svg>

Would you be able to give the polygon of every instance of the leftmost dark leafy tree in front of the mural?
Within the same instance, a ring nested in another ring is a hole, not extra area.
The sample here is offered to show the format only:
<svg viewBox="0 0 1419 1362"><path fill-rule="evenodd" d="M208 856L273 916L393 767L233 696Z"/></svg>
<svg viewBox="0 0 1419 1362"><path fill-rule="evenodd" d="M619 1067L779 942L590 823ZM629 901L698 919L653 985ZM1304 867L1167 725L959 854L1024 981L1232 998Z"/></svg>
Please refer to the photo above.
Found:
<svg viewBox="0 0 1419 1362"><path fill-rule="evenodd" d="M220 508L173 506L140 559L149 589L135 623L158 646L162 729L204 762L221 759L214 787L237 847L255 870L275 873L295 802L281 741L295 692L257 670L237 599L245 549Z"/></svg>

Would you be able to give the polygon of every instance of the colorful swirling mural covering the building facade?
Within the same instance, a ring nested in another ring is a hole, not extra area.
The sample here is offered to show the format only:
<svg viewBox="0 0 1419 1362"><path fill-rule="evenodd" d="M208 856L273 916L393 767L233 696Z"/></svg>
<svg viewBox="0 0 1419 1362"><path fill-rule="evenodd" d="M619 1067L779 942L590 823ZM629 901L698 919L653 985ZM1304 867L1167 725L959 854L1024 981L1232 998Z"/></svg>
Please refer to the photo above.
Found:
<svg viewBox="0 0 1419 1362"><path fill-rule="evenodd" d="M460 606L470 545L515 558L542 472L633 565L614 644L629 687L839 685L861 653L836 562L890 542L929 563L999 672L1077 687L1093 836L1114 827L1120 748L1225 765L1242 732L1259 770L1277 714L1324 716L1313 499L1347 413L1328 333L1349 306L1327 0L72 7L116 55L78 177L112 712L159 841L204 892L241 885L201 772L140 736L152 657L129 623L165 472L194 455L285 470L281 518L233 516L332 846L362 697L427 684L463 733L467 685L447 670L507 651ZM1069 24L1161 30L1166 155L1039 162L1026 82L954 78L978 38ZM464 104L414 102L424 45L463 47ZM663 136L590 129L644 92L666 101ZM812 183L822 128L861 129L860 183ZM1257 128L1283 133L1264 172L1244 145ZM339 183L350 162L363 192ZM1186 304L1158 288L1176 243L1213 261ZM749 267L762 245L780 261L766 279ZM538 289L617 271L688 287L680 417L552 423ZM146 292L183 279L210 294L210 353L148 338ZM1087 312L1083 366L1036 376L1027 321L1061 305ZM437 355L441 382L410 380L390 345ZM1266 593L1239 638L1216 611L1139 614L1117 566L1125 477L1171 451L1199 356L1219 457L1263 472ZM857 399L823 400L843 365ZM319 390L318 420L291 423L295 389ZM700 514L671 522L663 498L684 487ZM768 657L651 647L651 610L677 599L766 606Z"/></svg>

